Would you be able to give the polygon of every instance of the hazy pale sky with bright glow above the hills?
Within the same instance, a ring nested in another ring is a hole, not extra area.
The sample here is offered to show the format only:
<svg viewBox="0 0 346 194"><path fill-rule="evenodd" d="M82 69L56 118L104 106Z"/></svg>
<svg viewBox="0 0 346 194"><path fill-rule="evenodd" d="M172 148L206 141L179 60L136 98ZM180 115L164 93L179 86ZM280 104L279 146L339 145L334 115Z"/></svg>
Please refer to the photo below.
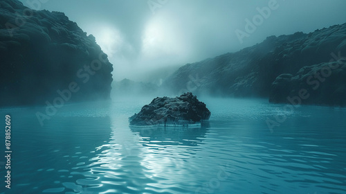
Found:
<svg viewBox="0 0 346 194"><path fill-rule="evenodd" d="M115 80L140 80L147 71L239 51L269 35L346 22L345 0L21 1L29 8L64 12L93 34L114 65ZM246 28L246 19L255 28Z"/></svg>

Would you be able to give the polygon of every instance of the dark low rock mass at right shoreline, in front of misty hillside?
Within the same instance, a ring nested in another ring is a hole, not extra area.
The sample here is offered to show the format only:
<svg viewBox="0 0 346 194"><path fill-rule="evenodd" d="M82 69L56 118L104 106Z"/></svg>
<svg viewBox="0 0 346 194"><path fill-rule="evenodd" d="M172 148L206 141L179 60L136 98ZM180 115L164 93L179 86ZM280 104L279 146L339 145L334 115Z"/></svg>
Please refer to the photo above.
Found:
<svg viewBox="0 0 346 194"><path fill-rule="evenodd" d="M278 76L271 87L271 103L346 106L346 58L303 67Z"/></svg>

